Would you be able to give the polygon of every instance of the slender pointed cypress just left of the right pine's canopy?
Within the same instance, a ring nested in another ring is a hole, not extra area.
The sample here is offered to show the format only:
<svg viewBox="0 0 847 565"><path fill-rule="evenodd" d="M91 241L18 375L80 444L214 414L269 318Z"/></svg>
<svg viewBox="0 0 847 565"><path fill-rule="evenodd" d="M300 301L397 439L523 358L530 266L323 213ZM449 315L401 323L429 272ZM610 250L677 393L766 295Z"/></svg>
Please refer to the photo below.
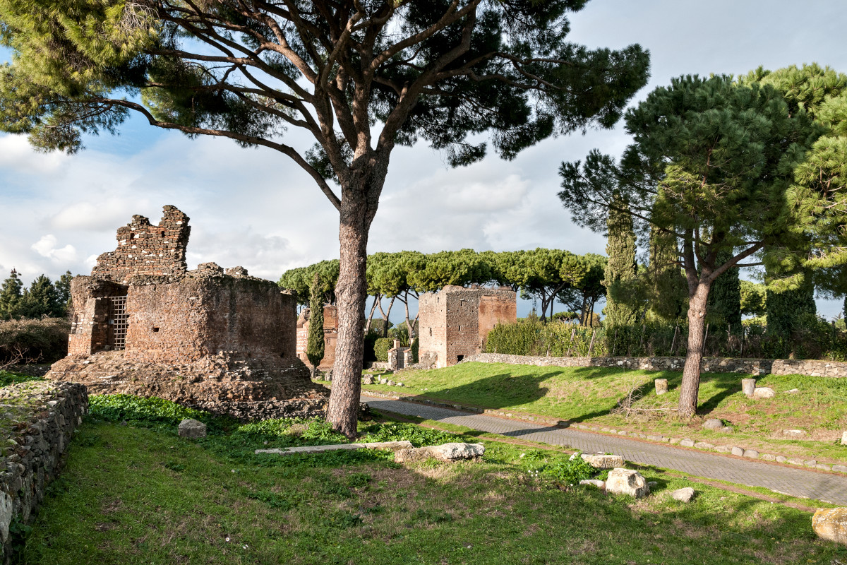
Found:
<svg viewBox="0 0 847 565"><path fill-rule="evenodd" d="M606 243L606 324L610 326L634 324L639 307L634 302L634 286L638 277L635 262L635 230L629 208L615 195L617 207L610 209L606 226L609 239ZM625 210L625 211L624 211Z"/></svg>

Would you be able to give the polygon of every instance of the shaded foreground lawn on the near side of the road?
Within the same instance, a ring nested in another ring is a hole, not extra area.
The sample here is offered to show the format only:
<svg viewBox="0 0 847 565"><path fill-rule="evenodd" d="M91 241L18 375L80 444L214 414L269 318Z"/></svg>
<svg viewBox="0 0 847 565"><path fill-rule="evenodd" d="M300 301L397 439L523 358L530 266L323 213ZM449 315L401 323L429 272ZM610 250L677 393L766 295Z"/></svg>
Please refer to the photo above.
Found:
<svg viewBox="0 0 847 565"><path fill-rule="evenodd" d="M483 463L402 468L385 457L256 458L174 429L84 424L20 562L828 563L811 515L645 470L642 501L544 488L546 457L488 442ZM555 455L555 454L553 454ZM357 460L356 460L357 459Z"/></svg>

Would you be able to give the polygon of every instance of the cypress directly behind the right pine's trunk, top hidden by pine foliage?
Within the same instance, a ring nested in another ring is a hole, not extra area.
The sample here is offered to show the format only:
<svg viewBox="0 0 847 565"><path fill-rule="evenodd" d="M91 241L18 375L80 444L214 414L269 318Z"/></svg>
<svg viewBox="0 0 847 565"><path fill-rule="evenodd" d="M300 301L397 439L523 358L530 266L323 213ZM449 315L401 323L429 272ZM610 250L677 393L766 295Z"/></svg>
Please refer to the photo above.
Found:
<svg viewBox="0 0 847 565"><path fill-rule="evenodd" d="M671 322L683 318L688 309L688 288L678 260L677 238L652 226L647 267L649 319Z"/></svg>

